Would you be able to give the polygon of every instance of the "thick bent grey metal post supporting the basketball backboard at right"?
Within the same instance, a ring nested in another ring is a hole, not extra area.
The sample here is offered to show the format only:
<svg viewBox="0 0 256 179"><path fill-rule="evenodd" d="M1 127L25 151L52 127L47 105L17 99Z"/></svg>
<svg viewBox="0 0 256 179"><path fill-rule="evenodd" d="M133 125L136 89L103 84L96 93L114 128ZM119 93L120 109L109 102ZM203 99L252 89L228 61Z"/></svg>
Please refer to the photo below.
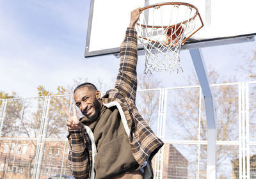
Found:
<svg viewBox="0 0 256 179"><path fill-rule="evenodd" d="M207 179L216 178L216 109L201 49L189 50L205 102L207 118Z"/></svg>

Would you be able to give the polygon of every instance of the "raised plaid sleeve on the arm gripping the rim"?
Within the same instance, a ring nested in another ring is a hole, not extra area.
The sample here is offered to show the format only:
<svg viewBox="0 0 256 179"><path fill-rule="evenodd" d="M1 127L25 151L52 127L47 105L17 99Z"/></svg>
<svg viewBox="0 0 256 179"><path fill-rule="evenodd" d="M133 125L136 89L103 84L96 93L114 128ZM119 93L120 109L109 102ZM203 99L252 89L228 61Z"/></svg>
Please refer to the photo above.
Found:
<svg viewBox="0 0 256 179"><path fill-rule="evenodd" d="M124 41L120 46L120 68L116 77L115 88L134 102L137 89L137 45L137 32L134 28L128 27Z"/></svg>

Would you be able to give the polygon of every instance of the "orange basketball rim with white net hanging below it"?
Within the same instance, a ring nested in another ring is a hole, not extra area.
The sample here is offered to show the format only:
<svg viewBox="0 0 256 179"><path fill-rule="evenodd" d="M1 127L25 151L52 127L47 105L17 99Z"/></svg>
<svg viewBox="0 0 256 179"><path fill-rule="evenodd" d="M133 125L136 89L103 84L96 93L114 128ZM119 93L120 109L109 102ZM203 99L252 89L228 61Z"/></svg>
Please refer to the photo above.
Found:
<svg viewBox="0 0 256 179"><path fill-rule="evenodd" d="M195 6L188 3L159 3L140 9L136 30L146 61L144 73L183 72L180 47L204 26Z"/></svg>

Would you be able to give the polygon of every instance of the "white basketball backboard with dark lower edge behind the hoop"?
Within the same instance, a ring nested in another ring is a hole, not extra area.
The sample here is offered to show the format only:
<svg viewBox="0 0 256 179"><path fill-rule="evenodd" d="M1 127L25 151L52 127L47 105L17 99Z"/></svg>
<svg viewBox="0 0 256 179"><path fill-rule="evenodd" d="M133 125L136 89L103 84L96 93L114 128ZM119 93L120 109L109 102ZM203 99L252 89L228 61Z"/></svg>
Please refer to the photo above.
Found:
<svg viewBox="0 0 256 179"><path fill-rule="evenodd" d="M129 26L131 11L161 0L91 0L85 57L118 54ZM255 0L179 0L198 8L204 27L182 49L209 47L254 40L256 36ZM138 50L142 51L141 44ZM139 52L140 54L140 52Z"/></svg>

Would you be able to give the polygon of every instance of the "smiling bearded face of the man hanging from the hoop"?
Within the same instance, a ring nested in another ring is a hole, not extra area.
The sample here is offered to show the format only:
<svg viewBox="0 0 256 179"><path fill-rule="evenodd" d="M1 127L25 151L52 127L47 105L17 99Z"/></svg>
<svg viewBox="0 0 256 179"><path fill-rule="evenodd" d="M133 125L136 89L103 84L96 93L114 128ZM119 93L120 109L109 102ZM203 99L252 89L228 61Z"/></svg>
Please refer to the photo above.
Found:
<svg viewBox="0 0 256 179"><path fill-rule="evenodd" d="M101 104L97 98L100 97L100 92L90 90L86 86L74 93L74 100L81 113L84 114L90 121L97 119L100 113Z"/></svg>

